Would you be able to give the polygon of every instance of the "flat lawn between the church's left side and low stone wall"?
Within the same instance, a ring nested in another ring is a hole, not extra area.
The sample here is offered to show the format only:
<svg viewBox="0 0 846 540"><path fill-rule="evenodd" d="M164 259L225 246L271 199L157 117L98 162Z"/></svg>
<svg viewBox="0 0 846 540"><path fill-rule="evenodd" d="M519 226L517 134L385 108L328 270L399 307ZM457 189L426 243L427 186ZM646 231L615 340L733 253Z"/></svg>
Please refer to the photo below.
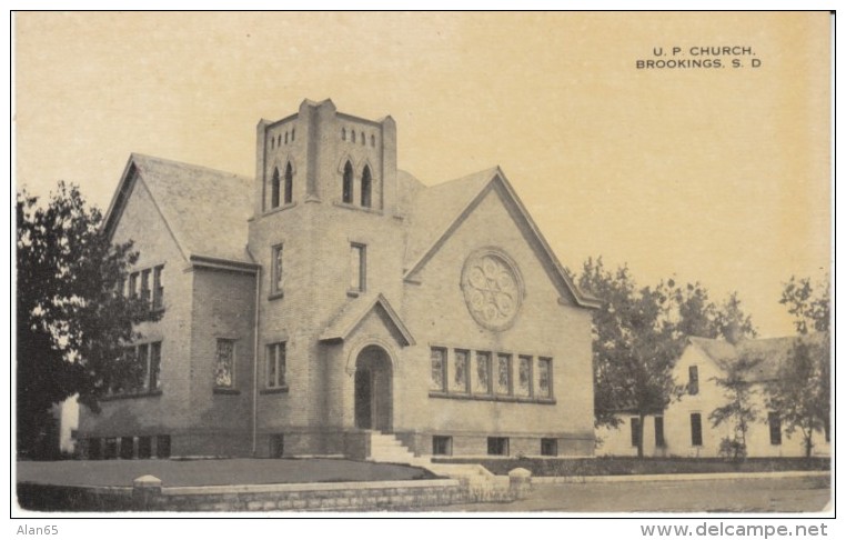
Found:
<svg viewBox="0 0 846 540"><path fill-rule="evenodd" d="M163 487L367 482L435 478L416 467L343 459L19 461L18 482L132 486L152 474Z"/></svg>

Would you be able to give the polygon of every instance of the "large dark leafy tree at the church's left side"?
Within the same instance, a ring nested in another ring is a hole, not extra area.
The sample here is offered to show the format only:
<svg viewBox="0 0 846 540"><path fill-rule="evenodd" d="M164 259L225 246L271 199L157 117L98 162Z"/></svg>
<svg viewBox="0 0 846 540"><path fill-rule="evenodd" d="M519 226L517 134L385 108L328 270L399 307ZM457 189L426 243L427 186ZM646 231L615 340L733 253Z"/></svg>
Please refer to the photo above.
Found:
<svg viewBox="0 0 846 540"><path fill-rule="evenodd" d="M123 354L134 324L161 311L122 294L138 253L101 233L102 213L75 186L60 182L47 208L19 192L17 220L18 453L44 457L51 406L78 393L99 411L99 398L141 370Z"/></svg>

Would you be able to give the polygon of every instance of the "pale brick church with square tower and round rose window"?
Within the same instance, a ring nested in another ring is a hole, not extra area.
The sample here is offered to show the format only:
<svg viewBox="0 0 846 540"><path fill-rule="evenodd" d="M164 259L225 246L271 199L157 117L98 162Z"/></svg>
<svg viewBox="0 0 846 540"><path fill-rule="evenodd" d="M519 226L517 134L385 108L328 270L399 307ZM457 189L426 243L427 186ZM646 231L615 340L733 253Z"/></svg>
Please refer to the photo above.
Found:
<svg viewBox="0 0 846 540"><path fill-rule="evenodd" d="M132 154L104 232L161 320L80 412L91 459L592 456L591 318L500 168L397 169L391 117L261 120L255 177Z"/></svg>

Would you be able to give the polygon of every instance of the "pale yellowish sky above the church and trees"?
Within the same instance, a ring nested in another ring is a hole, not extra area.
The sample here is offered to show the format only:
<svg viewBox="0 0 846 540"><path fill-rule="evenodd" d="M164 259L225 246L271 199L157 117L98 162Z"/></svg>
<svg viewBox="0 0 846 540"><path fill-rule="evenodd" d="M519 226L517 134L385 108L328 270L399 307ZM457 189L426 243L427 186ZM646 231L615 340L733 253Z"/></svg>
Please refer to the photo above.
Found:
<svg viewBox="0 0 846 540"><path fill-rule="evenodd" d="M643 286L737 291L762 337L794 333L778 303L790 276L830 271L827 12L19 12L14 26L14 176L33 194L66 180L105 209L131 152L253 176L259 119L331 98L391 114L399 166L425 184L501 166L564 266L602 256ZM694 60L723 67L637 67Z"/></svg>

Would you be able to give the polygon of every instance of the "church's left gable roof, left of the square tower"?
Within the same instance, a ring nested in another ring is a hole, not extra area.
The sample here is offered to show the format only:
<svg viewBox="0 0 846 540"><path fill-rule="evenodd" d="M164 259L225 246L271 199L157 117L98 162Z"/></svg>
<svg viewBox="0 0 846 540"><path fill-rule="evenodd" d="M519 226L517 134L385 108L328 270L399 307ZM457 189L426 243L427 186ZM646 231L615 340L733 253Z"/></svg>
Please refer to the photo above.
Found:
<svg viewBox="0 0 846 540"><path fill-rule="evenodd" d="M252 262L246 252L251 179L133 153L105 217L108 234L114 232L135 182L147 187L187 260Z"/></svg>

